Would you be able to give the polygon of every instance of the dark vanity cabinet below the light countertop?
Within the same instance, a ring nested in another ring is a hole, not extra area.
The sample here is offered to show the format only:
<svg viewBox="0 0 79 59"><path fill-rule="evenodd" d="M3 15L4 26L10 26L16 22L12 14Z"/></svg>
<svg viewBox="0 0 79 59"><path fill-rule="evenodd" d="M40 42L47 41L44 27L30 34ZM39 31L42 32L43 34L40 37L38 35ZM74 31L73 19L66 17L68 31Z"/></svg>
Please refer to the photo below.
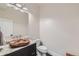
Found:
<svg viewBox="0 0 79 59"><path fill-rule="evenodd" d="M24 47L20 50L14 51L10 54L6 54L5 56L36 56L36 43Z"/></svg>

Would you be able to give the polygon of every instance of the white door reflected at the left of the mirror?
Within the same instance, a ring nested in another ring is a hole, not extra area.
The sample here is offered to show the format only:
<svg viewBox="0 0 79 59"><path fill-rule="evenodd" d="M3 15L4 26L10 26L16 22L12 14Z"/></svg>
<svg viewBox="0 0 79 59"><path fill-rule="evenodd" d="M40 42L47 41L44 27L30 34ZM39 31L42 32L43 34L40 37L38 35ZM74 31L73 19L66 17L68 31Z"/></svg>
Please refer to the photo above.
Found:
<svg viewBox="0 0 79 59"><path fill-rule="evenodd" d="M1 38L7 40L7 37L13 33L13 21L9 19L0 18ZM2 41L2 39L1 39ZM1 42L2 44L2 42ZM4 44L4 42L3 42Z"/></svg>

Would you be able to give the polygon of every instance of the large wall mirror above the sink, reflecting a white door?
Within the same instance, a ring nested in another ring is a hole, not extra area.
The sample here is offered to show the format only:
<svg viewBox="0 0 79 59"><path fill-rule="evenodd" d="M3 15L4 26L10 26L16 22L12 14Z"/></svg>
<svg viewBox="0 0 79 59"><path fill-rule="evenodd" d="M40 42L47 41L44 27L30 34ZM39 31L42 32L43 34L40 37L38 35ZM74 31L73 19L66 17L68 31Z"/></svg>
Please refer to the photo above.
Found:
<svg viewBox="0 0 79 59"><path fill-rule="evenodd" d="M8 7L7 4L0 4L0 28L3 33L0 45L6 44L10 40L10 35L26 36L28 34L28 14Z"/></svg>

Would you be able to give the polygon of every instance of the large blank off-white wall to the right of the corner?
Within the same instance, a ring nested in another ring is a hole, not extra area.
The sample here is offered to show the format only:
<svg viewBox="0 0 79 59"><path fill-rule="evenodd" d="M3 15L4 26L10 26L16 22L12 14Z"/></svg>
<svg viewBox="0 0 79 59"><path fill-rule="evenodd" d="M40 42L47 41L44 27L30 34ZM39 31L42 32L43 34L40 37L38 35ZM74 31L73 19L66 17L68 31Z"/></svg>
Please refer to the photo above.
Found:
<svg viewBox="0 0 79 59"><path fill-rule="evenodd" d="M48 49L61 55L79 49L79 4L40 7L40 38Z"/></svg>

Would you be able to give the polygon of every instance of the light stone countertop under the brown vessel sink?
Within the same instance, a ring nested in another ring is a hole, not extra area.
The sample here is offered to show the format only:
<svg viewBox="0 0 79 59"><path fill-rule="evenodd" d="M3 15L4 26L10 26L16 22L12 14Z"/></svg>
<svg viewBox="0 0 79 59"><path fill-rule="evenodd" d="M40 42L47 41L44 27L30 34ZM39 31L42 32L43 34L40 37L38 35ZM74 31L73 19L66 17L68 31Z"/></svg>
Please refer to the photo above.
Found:
<svg viewBox="0 0 79 59"><path fill-rule="evenodd" d="M31 40L30 44L28 44L27 46L36 43L36 41L37 41L37 40ZM4 45L4 46L3 46L3 49L0 51L0 56L4 56L4 55L6 55L6 54L12 53L12 52L14 52L14 51L17 51L17 50L22 49L22 48L27 47L27 46L18 47L18 48L10 48L9 44Z"/></svg>

